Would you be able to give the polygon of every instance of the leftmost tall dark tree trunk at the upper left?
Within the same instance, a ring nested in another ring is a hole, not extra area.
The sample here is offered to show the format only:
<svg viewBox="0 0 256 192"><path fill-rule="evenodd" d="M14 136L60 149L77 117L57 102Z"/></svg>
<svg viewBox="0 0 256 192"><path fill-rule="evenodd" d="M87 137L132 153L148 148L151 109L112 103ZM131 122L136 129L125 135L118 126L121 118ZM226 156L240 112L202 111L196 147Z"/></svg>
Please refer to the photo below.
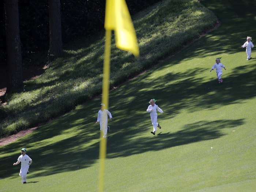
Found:
<svg viewBox="0 0 256 192"><path fill-rule="evenodd" d="M7 46L7 92L22 84L22 56L19 36L18 0L5 0L5 34Z"/></svg>

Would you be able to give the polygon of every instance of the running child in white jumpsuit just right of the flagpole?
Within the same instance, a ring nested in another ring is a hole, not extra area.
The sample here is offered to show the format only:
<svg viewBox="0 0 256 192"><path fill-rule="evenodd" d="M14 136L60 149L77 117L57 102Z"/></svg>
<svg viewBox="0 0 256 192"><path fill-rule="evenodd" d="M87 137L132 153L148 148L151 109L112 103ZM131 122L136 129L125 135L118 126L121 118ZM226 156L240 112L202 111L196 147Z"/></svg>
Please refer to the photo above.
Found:
<svg viewBox="0 0 256 192"><path fill-rule="evenodd" d="M163 110L160 109L156 104L157 100L155 99L151 99L149 101L150 105L148 106L147 108L147 112L150 113L150 118L151 118L151 122L152 122L152 125L153 125L153 131L151 131L151 133L153 135L155 135L155 132L157 131L157 127L159 127L159 129L161 129L161 126L157 123L157 110L160 112L160 113L163 113Z"/></svg>

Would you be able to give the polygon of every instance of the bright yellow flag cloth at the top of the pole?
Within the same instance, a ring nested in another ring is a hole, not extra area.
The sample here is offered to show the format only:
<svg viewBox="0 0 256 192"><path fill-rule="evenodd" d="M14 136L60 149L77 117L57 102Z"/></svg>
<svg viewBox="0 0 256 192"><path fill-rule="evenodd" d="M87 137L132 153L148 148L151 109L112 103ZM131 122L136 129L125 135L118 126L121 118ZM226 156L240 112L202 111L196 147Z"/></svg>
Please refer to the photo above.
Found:
<svg viewBox="0 0 256 192"><path fill-rule="evenodd" d="M114 30L116 46L139 56L139 46L125 0L106 0L105 29Z"/></svg>

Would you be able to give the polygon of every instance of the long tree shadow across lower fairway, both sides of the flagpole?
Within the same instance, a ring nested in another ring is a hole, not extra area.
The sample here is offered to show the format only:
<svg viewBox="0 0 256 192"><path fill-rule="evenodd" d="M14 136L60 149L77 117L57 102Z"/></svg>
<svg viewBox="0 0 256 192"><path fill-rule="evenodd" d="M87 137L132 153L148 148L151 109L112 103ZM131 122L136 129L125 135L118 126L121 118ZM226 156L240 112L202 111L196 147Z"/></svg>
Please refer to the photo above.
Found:
<svg viewBox="0 0 256 192"><path fill-rule="evenodd" d="M158 151L174 146L216 139L224 135L221 132L222 128L242 125L244 120L197 121L193 124L184 125L177 132L160 133L150 138L148 136L134 138L134 136L142 135L147 131L143 129L147 123L142 123L141 118L137 118L133 123L130 123L131 127L123 127L120 131L118 131L118 125L112 126L112 129L117 130L117 132L108 138L107 158L127 157L147 151ZM138 129L134 129L133 125L139 125ZM98 131L95 130L92 135L89 132L82 129L80 133L70 138L49 143L44 147L31 148L28 151L28 155L33 159L30 177L75 171L96 163L99 155L99 135ZM41 139L38 138L37 141L39 142ZM16 158L18 158L18 155L17 157L12 155L1 159L2 166L5 167L0 171L1 178L16 177L20 169L17 166L12 166L12 162L15 162Z"/></svg>

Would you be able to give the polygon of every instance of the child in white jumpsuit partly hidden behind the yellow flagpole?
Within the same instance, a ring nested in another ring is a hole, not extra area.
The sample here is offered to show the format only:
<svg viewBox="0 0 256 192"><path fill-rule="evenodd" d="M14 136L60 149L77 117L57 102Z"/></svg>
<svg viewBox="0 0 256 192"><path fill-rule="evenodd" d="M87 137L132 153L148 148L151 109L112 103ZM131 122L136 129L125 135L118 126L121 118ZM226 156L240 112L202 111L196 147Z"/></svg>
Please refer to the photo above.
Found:
<svg viewBox="0 0 256 192"><path fill-rule="evenodd" d="M109 115L109 119L110 120L112 120L112 115L111 115L111 113L108 110L103 109L103 106L105 106L105 104L101 103L101 109L98 112L98 118L97 118L96 123L99 122L100 129L103 132L103 138L106 138L107 137L107 133L109 131L108 115ZM106 113L106 118L103 118L104 113ZM104 124L105 124L105 126L103 126Z"/></svg>

